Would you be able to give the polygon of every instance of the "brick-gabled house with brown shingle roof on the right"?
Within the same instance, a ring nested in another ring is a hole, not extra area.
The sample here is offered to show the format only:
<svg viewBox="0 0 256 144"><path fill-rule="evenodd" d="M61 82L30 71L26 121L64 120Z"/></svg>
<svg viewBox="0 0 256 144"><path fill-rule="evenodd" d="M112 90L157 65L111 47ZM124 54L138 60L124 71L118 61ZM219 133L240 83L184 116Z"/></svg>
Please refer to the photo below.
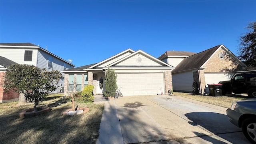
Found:
<svg viewBox="0 0 256 144"><path fill-rule="evenodd" d="M172 64L170 60L168 64ZM192 92L192 84L198 84L200 92L208 93L207 84L230 80L233 71L244 70L247 66L241 62L223 44L184 58L172 70L173 90Z"/></svg>

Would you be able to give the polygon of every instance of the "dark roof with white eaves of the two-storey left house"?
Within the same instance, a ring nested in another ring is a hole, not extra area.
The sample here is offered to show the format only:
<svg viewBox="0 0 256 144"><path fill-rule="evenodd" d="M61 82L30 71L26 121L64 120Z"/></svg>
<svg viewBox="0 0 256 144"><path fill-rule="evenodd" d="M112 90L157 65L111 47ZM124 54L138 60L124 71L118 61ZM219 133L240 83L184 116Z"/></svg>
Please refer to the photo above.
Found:
<svg viewBox="0 0 256 144"><path fill-rule="evenodd" d="M64 62L66 62L66 63L68 63L68 64L70 64L72 66L75 66L74 64L72 64L72 63L70 63L70 62L68 62L68 61L66 61L66 60L56 56L55 54L49 52L48 50L45 50L44 48L41 48L39 45L37 46L37 45L31 44L29 42L26 42L26 43L0 43L0 47L8 47L8 48L12 48L12 47L14 47L14 48L38 48L39 50L42 50L42 51L46 52L47 54L50 54L50 55L52 55L52 56L54 56L54 57L56 57L56 58L58 58L58 59L60 59L60 60L62 60Z"/></svg>

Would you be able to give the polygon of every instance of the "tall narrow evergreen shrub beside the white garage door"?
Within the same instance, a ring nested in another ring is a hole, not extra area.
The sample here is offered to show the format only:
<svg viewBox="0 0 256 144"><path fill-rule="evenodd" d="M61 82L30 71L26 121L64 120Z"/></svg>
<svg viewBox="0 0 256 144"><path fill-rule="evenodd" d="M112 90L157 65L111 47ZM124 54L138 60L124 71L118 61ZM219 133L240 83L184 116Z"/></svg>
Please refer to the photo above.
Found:
<svg viewBox="0 0 256 144"><path fill-rule="evenodd" d="M113 97L115 95L115 92L117 90L117 84L116 84L117 74L115 73L114 69L110 69L108 67L108 70L106 70L105 74L105 91L103 92L104 96L106 97Z"/></svg>

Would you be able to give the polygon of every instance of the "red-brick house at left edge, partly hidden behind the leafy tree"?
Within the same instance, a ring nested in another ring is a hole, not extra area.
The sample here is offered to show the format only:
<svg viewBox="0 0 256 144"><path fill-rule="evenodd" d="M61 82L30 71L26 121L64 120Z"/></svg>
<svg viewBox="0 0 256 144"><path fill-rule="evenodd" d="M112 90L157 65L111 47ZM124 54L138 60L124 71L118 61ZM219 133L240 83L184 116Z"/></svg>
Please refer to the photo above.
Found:
<svg viewBox="0 0 256 144"><path fill-rule="evenodd" d="M10 90L9 92L4 92L2 88L2 82L4 80L4 74L6 67L12 64L17 64L16 62L9 60L8 58L0 56L0 102L8 102L19 99L19 93Z"/></svg>

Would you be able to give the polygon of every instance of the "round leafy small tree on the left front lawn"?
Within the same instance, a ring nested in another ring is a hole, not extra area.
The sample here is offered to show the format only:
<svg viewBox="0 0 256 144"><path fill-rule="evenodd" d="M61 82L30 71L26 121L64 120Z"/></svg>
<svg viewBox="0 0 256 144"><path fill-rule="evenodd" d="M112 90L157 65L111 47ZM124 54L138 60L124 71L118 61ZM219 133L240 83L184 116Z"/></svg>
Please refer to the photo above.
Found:
<svg viewBox="0 0 256 144"><path fill-rule="evenodd" d="M7 67L3 88L24 94L29 102L34 102L34 112L38 103L58 87L62 74L57 70L46 71L33 65L13 64Z"/></svg>

